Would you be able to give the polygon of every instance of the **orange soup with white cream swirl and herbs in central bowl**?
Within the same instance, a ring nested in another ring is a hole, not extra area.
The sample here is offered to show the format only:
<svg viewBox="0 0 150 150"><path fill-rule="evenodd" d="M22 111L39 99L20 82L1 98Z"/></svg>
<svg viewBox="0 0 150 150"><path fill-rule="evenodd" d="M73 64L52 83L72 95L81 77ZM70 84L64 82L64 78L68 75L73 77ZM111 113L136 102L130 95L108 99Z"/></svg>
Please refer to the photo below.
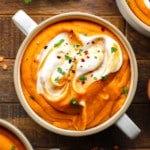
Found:
<svg viewBox="0 0 150 150"><path fill-rule="evenodd" d="M24 96L50 124L85 130L103 123L124 104L130 62L119 39L88 21L55 23L28 45L21 63Z"/></svg>

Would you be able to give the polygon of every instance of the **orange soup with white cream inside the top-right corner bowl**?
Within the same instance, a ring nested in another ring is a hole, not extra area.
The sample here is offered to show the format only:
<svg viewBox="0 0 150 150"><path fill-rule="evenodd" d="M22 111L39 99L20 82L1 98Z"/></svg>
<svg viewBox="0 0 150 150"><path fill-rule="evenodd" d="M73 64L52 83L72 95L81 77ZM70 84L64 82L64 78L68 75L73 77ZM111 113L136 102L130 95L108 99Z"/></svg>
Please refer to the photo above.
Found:
<svg viewBox="0 0 150 150"><path fill-rule="evenodd" d="M133 13L146 25L150 26L150 1L149 0L127 0Z"/></svg>

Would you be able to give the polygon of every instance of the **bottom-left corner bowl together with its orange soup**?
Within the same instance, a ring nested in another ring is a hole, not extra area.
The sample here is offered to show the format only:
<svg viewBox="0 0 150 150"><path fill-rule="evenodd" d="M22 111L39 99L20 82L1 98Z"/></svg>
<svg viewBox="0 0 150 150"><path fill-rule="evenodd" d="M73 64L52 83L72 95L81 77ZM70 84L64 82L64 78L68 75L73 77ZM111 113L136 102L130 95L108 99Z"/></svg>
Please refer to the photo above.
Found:
<svg viewBox="0 0 150 150"><path fill-rule="evenodd" d="M32 150L32 146L19 129L0 119L0 150Z"/></svg>

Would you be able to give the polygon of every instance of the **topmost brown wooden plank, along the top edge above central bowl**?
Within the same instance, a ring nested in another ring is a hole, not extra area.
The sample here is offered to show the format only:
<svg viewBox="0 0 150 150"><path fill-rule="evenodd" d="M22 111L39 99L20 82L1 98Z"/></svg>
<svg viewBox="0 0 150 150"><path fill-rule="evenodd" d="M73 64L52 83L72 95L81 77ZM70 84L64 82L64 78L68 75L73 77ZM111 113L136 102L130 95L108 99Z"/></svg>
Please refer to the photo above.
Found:
<svg viewBox="0 0 150 150"><path fill-rule="evenodd" d="M14 14L18 9L24 9L29 14L82 11L98 15L120 15L114 0L32 0L28 5L24 0L5 0L0 2L0 8L0 14Z"/></svg>

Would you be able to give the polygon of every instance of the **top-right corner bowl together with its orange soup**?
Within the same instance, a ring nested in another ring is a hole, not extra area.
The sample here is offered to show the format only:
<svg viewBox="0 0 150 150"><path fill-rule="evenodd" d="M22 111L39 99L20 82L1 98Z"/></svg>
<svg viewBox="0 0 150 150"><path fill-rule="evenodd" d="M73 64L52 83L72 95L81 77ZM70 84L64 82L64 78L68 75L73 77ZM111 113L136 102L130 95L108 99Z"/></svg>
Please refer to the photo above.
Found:
<svg viewBox="0 0 150 150"><path fill-rule="evenodd" d="M116 0L126 21L141 34L150 37L150 1Z"/></svg>

